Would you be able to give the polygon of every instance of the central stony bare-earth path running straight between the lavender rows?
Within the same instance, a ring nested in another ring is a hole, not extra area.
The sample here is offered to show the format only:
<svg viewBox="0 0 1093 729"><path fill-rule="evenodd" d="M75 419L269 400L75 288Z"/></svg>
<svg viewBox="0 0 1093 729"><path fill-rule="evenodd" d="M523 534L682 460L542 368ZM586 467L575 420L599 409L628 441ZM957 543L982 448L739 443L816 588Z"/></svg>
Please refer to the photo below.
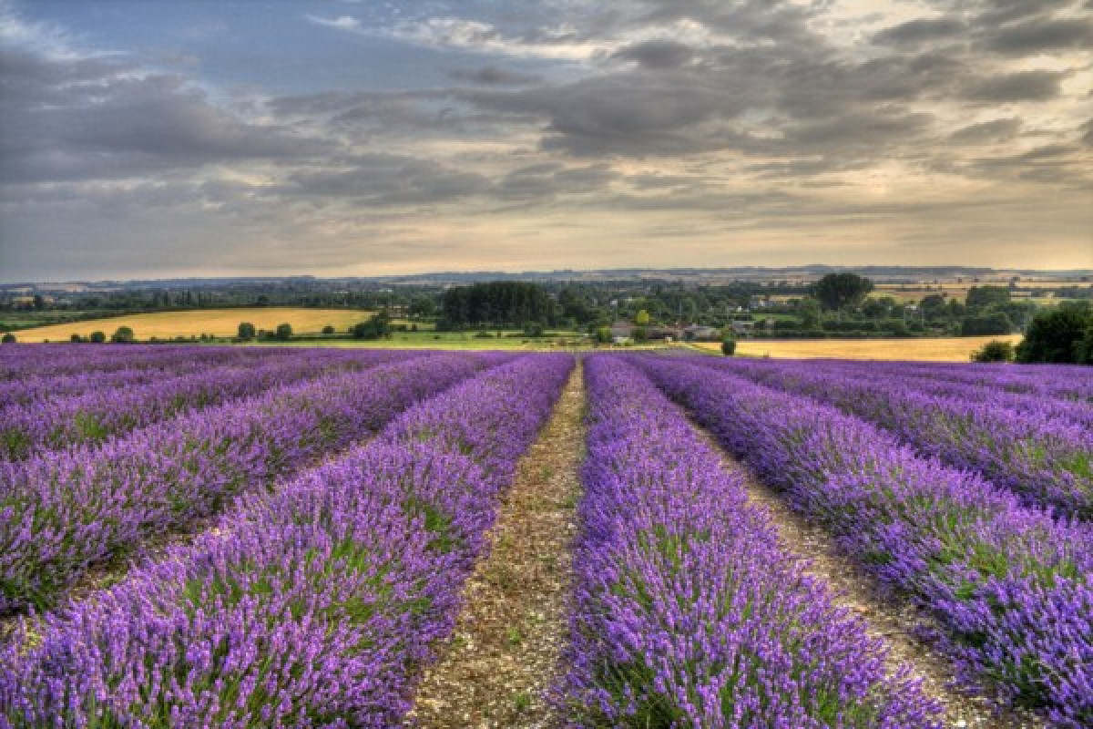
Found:
<svg viewBox="0 0 1093 729"><path fill-rule="evenodd" d="M520 462L490 555L463 588L453 636L426 669L407 726L557 726L545 693L567 640L584 413L578 364Z"/></svg>

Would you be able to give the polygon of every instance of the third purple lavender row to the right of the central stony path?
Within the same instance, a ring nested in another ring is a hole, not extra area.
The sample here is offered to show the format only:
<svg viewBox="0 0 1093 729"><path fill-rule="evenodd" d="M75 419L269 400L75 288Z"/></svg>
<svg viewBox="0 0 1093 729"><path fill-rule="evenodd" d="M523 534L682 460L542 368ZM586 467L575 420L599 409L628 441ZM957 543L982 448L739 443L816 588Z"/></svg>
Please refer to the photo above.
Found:
<svg viewBox="0 0 1093 729"><path fill-rule="evenodd" d="M924 455L983 473L1026 504L1093 518L1093 431L1086 427L990 400L927 395L897 378L865 380L792 362L716 366L872 421Z"/></svg>

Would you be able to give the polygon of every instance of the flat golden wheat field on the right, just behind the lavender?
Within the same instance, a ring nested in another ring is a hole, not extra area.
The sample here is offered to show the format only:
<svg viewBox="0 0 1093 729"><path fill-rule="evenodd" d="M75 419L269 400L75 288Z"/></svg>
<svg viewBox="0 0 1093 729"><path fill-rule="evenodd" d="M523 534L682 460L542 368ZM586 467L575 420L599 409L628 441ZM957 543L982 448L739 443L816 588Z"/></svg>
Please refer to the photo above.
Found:
<svg viewBox="0 0 1093 729"><path fill-rule="evenodd" d="M740 340L737 354L809 360L838 357L842 360L914 360L918 362L967 362L972 352L989 341L1000 339L1016 345L1021 334L995 337L945 337L937 339L804 339L769 341ZM716 342L703 342L702 349L720 351Z"/></svg>

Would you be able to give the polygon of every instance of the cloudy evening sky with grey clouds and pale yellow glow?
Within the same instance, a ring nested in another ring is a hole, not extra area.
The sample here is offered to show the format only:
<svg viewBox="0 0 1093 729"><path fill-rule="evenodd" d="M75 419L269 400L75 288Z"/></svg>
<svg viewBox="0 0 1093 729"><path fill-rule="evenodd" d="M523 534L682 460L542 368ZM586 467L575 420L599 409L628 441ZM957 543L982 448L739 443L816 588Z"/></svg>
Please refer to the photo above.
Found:
<svg viewBox="0 0 1093 729"><path fill-rule="evenodd" d="M0 0L0 281L1093 268L1093 0Z"/></svg>

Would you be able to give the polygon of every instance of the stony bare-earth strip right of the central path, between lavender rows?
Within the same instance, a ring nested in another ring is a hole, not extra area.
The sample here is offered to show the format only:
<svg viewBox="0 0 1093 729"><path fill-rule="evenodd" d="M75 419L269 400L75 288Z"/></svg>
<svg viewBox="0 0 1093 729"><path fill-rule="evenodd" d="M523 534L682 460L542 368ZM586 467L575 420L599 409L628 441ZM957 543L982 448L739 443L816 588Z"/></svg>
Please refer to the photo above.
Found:
<svg viewBox="0 0 1093 729"><path fill-rule="evenodd" d="M713 440L712 445L716 447ZM925 611L910 600L884 590L839 551L830 533L791 510L784 498L763 484L749 468L724 451L722 459L726 470L743 475L749 503L766 512L783 546L803 560L806 572L831 587L835 602L857 614L870 636L885 644L891 670L908 666L921 679L924 692L944 707L945 726L968 729L1038 729L1046 726L1027 714L997 713L989 698L960 691L952 662L916 636L918 628L937 628Z"/></svg>

